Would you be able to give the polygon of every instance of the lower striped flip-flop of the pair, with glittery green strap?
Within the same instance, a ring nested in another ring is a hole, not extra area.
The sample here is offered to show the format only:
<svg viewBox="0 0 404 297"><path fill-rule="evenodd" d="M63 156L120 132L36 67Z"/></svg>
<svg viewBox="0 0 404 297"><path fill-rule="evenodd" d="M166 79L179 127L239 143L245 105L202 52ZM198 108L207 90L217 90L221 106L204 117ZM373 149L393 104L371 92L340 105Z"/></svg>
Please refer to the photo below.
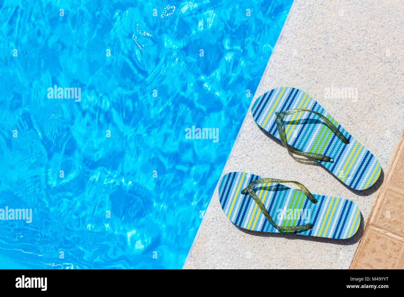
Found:
<svg viewBox="0 0 404 297"><path fill-rule="evenodd" d="M280 183L295 183L302 191ZM231 222L253 231L344 239L360 224L355 203L311 194L297 181L231 172L219 182L219 200Z"/></svg>

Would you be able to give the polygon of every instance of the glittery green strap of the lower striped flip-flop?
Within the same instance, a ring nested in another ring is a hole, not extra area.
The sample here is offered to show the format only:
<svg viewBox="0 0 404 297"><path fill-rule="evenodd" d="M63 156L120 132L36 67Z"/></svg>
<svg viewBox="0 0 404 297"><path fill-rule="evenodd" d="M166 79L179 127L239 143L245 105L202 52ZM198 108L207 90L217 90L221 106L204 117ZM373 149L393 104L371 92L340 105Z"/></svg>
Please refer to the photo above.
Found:
<svg viewBox="0 0 404 297"><path fill-rule="evenodd" d="M255 203L257 203L259 209L261 209L261 212L263 213L263 215L265 215L265 217L268 219L268 221L270 221L272 225L274 225L275 227L277 227L280 230L284 230L284 231L303 231L303 230L310 230L310 229L313 228L313 225L311 225L311 224L309 224L309 225L286 226L286 227L276 225L274 220L269 215L267 209L265 209L265 206L262 203L261 199L258 198L257 194L255 194L254 190L252 189L255 185L257 185L259 183L294 183L303 191L303 193L307 196L307 198L309 198L309 200L311 202L316 204L317 203L316 198L314 198L314 196L309 192L309 190L307 190L307 188L304 185L302 185L301 183L299 183L297 181L285 181L283 179L271 179L271 178L257 179L255 181L250 182L247 185L247 187L244 190L241 191L241 194L247 194L247 192L248 192L248 194L251 195L252 199L254 199Z"/></svg>

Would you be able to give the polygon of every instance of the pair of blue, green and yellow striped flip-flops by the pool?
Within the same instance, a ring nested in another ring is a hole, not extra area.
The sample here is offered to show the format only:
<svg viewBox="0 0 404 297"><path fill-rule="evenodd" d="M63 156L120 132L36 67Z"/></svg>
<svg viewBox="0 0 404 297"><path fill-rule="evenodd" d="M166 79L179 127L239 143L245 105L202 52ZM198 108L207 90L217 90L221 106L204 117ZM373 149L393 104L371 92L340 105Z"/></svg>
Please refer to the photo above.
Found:
<svg viewBox="0 0 404 297"><path fill-rule="evenodd" d="M303 91L275 88L255 101L251 113L290 152L314 158L349 187L365 190L379 178L375 156ZM360 224L355 203L311 194L297 181L231 172L219 182L219 200L230 221L247 230L344 239Z"/></svg>

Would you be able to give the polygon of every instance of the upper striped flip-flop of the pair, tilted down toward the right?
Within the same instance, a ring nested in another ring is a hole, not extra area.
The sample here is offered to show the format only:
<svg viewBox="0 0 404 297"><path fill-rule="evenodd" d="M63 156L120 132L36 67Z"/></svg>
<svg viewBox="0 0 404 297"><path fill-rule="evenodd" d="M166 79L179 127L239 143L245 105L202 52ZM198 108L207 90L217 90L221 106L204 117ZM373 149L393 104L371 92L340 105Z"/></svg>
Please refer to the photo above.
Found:
<svg viewBox="0 0 404 297"><path fill-rule="evenodd" d="M280 87L261 95L252 118L292 153L315 158L355 190L373 185L379 161L313 98L297 88Z"/></svg>

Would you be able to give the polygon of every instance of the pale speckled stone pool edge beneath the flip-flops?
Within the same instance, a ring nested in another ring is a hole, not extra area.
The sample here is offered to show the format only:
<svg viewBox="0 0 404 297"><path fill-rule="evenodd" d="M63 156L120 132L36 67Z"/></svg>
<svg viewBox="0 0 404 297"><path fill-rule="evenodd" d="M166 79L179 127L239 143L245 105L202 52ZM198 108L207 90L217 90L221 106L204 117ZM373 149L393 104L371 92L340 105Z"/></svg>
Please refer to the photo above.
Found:
<svg viewBox="0 0 404 297"><path fill-rule="evenodd" d="M224 215L216 188L184 268L349 268L404 128L403 6L295 0L252 100L278 86L305 91L380 161L375 185L352 190L318 162L292 156L249 111L222 173L296 180L316 194L352 200L362 213L356 235L336 240L240 229Z"/></svg>

